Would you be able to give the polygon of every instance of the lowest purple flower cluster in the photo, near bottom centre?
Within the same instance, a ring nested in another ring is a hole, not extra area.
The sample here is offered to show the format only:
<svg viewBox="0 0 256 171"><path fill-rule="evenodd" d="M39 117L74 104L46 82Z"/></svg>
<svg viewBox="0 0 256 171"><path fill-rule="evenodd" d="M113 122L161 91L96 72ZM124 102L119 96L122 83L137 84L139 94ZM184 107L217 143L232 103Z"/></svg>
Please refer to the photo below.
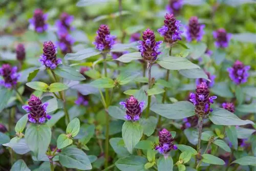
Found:
<svg viewBox="0 0 256 171"><path fill-rule="evenodd" d="M155 149L163 155L168 155L171 149L177 149L177 146L173 144L174 139L172 134L166 129L162 129L158 133L159 136L159 144L155 147Z"/></svg>

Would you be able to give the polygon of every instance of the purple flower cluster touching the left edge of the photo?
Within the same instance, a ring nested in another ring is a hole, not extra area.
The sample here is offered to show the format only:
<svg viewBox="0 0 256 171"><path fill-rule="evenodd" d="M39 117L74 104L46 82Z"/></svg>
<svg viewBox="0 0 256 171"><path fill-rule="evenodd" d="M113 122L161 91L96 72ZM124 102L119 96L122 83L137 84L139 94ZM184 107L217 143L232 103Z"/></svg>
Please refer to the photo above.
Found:
<svg viewBox="0 0 256 171"><path fill-rule="evenodd" d="M15 87L20 76L20 74L17 73L17 67L12 67L9 64L4 64L0 68L0 75L3 77L3 80L0 79L0 86L6 88Z"/></svg>

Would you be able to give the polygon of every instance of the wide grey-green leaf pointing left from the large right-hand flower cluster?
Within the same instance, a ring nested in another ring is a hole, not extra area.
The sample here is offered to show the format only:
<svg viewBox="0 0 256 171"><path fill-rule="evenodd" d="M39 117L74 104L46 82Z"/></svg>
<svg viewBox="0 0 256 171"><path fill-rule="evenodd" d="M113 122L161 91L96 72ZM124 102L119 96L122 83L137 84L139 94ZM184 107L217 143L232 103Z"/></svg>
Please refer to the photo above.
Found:
<svg viewBox="0 0 256 171"><path fill-rule="evenodd" d="M183 119L195 115L195 106L188 101L178 101L174 104L153 104L150 109L168 119Z"/></svg>

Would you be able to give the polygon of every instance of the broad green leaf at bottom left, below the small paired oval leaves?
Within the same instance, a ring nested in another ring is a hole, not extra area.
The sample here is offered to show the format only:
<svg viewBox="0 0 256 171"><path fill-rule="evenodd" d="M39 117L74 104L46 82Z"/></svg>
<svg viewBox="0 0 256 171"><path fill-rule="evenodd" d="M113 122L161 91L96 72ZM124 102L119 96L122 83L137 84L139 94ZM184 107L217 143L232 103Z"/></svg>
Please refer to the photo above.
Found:
<svg viewBox="0 0 256 171"><path fill-rule="evenodd" d="M77 168L81 170L92 169L88 156L78 148L66 147L59 153L59 162L67 168Z"/></svg>

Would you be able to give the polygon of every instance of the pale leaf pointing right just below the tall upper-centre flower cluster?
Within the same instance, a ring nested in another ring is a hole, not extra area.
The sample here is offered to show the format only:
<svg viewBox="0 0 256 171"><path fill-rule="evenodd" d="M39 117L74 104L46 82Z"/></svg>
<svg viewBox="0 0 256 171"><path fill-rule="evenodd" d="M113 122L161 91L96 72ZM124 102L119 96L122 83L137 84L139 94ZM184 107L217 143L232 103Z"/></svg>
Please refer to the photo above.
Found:
<svg viewBox="0 0 256 171"><path fill-rule="evenodd" d="M200 69L198 65L183 57L164 57L157 63L167 70Z"/></svg>

